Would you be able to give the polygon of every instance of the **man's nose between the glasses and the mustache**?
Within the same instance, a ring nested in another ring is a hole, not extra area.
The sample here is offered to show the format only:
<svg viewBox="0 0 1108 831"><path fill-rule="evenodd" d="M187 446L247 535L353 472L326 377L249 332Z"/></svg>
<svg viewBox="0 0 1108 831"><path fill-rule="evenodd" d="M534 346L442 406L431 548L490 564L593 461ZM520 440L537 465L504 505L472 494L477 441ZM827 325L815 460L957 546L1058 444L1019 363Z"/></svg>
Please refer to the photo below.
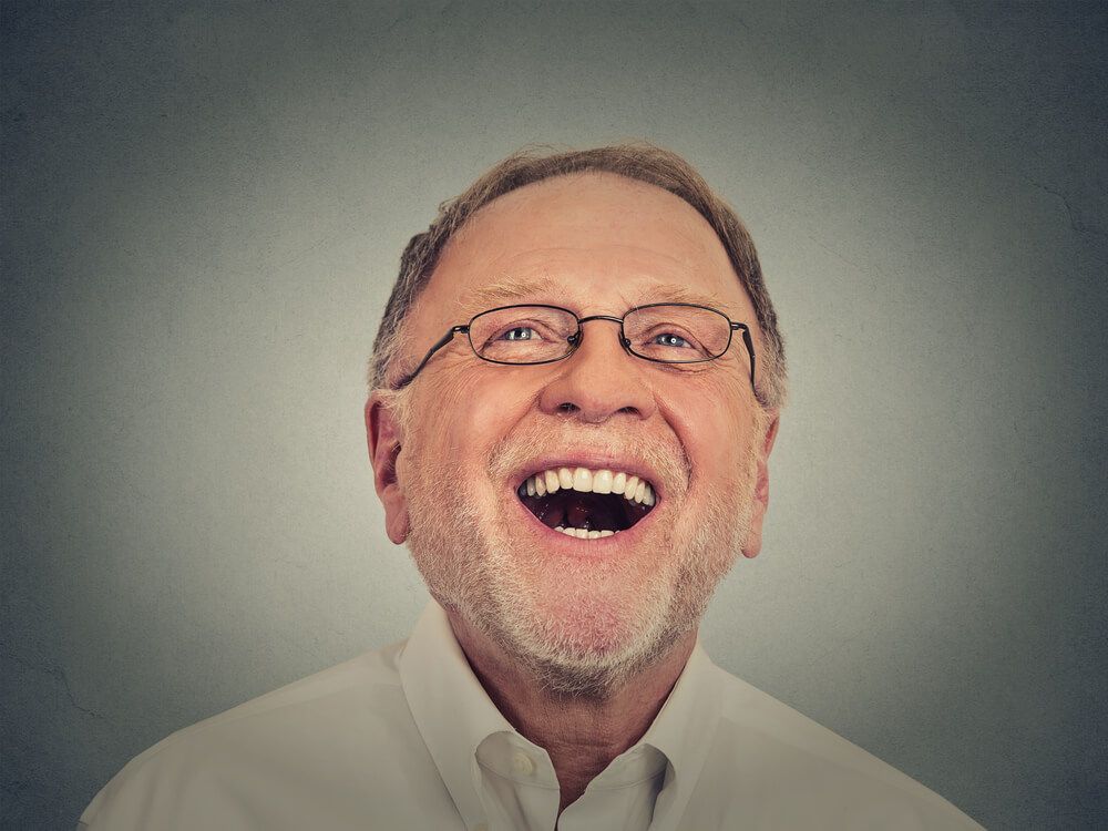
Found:
<svg viewBox="0 0 1108 831"><path fill-rule="evenodd" d="M592 331L581 329L581 346L563 361L551 365L557 375L543 389L540 407L554 416L572 416L602 424L616 416L650 418L657 409L654 391L643 378L643 363L619 343L618 318L597 317Z"/></svg>

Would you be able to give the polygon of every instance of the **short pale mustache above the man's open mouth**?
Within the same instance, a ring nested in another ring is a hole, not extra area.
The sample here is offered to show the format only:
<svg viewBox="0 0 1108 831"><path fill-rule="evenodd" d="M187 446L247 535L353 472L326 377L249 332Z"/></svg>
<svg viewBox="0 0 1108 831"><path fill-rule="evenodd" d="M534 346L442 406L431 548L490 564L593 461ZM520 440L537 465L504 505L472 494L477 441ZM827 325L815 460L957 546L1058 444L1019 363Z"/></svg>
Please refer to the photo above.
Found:
<svg viewBox="0 0 1108 831"><path fill-rule="evenodd" d="M675 435L647 435L643 430L622 427L583 427L579 423L521 425L496 442L489 452L489 472L500 481L526 468L541 450L544 453L589 450L652 471L655 484L676 495L688 490L693 463Z"/></svg>

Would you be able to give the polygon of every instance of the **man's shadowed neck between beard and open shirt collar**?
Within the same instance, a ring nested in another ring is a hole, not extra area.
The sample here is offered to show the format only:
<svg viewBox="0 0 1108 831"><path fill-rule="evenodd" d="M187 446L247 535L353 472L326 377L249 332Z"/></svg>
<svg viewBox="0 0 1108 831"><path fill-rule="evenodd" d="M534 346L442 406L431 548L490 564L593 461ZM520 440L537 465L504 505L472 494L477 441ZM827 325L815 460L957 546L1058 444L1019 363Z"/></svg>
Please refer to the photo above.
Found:
<svg viewBox="0 0 1108 831"><path fill-rule="evenodd" d="M561 790L558 813L613 759L643 738L696 645L696 632L681 636L658 660L605 696L565 696L551 693L523 661L460 615L447 614L493 704L522 736L550 755Z"/></svg>

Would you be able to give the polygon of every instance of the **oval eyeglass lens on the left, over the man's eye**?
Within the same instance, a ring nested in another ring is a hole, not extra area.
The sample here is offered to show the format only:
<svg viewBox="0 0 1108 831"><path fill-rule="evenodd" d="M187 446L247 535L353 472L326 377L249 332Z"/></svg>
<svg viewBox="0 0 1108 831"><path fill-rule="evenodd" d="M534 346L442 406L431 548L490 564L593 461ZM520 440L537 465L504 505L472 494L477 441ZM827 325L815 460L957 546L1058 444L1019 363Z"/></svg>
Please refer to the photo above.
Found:
<svg viewBox="0 0 1108 831"><path fill-rule="evenodd" d="M577 318L550 306L510 306L478 315L470 322L473 351L497 363L542 363L573 351Z"/></svg>

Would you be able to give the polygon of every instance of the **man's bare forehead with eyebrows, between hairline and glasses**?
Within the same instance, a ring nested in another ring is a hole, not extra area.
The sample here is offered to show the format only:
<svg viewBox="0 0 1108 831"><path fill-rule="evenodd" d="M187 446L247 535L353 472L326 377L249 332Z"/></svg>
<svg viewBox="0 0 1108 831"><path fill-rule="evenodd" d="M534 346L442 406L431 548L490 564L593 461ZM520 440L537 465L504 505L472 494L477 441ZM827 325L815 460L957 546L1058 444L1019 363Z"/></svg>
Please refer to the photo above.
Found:
<svg viewBox="0 0 1108 831"><path fill-rule="evenodd" d="M615 174L573 174L512 191L476 212L445 247L417 326L430 335L517 302L619 315L664 301L753 319L722 243L691 205Z"/></svg>

